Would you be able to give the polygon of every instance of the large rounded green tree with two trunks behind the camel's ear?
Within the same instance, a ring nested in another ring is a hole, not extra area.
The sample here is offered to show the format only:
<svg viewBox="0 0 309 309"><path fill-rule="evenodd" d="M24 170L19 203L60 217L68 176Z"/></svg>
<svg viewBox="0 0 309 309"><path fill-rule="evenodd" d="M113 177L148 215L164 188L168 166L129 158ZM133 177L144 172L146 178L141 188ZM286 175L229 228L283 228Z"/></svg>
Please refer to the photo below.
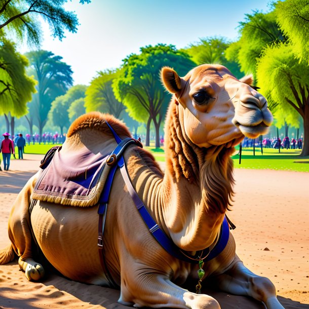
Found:
<svg viewBox="0 0 309 309"><path fill-rule="evenodd" d="M149 146L149 128L153 122L156 147L160 147L160 125L170 101L160 81L160 70L172 66L184 75L195 63L173 45L149 45L140 51L139 55L131 54L123 60L122 74L114 80L113 90L115 97L128 108L130 117L146 124L146 146Z"/></svg>

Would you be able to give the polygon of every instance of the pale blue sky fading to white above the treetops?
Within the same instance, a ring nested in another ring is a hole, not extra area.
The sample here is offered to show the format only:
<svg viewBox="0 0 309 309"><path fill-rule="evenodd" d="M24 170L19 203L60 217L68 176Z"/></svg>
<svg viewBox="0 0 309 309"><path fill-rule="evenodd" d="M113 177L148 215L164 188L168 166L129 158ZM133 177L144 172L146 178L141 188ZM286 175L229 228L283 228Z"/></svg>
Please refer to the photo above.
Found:
<svg viewBox="0 0 309 309"><path fill-rule="evenodd" d="M117 68L128 55L158 43L184 48L202 37L237 40L238 25L252 10L269 11L269 0L92 0L69 1L80 26L76 33L53 38L42 23L41 49L63 57L73 70L74 85L89 85L98 71ZM21 53L30 51L20 45Z"/></svg>

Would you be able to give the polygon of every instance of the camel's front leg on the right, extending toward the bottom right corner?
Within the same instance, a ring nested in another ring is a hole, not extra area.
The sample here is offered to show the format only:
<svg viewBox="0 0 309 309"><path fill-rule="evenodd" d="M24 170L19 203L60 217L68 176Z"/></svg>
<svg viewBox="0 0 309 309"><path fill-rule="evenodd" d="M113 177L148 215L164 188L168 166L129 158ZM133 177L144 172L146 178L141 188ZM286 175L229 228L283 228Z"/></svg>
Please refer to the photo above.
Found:
<svg viewBox="0 0 309 309"><path fill-rule="evenodd" d="M284 309L277 299L276 288L271 280L252 273L237 255L228 269L214 279L223 291L251 296L262 301L267 309Z"/></svg>

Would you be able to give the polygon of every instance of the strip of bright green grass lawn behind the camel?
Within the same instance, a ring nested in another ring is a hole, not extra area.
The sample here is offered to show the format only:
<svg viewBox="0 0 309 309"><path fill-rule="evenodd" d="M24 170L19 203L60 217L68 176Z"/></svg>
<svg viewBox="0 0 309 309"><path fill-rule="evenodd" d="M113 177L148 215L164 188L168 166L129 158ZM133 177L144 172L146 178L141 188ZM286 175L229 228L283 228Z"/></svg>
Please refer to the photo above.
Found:
<svg viewBox="0 0 309 309"><path fill-rule="evenodd" d="M30 144L26 145L26 153L45 153L55 144ZM163 148L144 147L151 151L152 155L157 161L165 161L165 153ZM17 150L17 148L16 148ZM18 153L18 151L17 151ZM263 155L260 148L255 148L255 156L253 156L253 148L242 149L242 161L239 164L238 150L232 157L235 168L241 169L271 169L271 170L285 170L296 172L309 172L309 157L299 157L299 149L278 149L263 148Z"/></svg>

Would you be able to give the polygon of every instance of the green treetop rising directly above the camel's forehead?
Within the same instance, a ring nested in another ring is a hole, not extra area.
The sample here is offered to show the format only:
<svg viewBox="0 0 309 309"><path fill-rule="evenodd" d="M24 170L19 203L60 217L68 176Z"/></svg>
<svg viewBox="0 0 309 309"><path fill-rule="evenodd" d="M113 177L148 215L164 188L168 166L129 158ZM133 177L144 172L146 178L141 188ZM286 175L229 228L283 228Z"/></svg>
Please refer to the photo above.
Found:
<svg viewBox="0 0 309 309"><path fill-rule="evenodd" d="M190 44L185 52L197 64L211 63L221 64L227 67L237 78L242 78L239 64L234 60L227 60L225 51L230 42L224 37L204 37L196 44Z"/></svg>

